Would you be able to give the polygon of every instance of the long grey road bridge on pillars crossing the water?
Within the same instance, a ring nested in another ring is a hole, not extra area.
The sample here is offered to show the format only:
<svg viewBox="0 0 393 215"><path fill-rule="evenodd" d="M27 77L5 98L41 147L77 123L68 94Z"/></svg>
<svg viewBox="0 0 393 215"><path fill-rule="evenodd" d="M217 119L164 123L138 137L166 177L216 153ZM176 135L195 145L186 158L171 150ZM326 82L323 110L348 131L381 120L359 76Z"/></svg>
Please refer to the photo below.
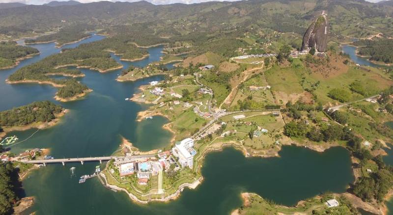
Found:
<svg viewBox="0 0 393 215"><path fill-rule="evenodd" d="M64 158L64 159L47 159L47 160L21 160L20 162L23 163L33 163L33 164L44 164L46 166L47 163L62 163L65 165L67 162L81 162L81 164L84 164L85 161L110 161L112 159L148 159L148 158L155 158L156 154L150 154L150 155L133 155L133 156L122 156L122 157L116 157L116 156L109 156L109 157L90 157L90 158Z"/></svg>

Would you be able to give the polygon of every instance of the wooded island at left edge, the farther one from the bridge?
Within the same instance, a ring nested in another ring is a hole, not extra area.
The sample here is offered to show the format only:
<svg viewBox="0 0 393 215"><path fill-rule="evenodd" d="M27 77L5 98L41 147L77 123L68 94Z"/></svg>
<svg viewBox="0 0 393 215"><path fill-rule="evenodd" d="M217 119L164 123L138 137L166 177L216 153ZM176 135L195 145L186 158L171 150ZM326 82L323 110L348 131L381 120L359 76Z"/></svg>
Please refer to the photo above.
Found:
<svg viewBox="0 0 393 215"><path fill-rule="evenodd" d="M34 54L39 54L35 48L19 46L14 41L0 41L0 69L12 68Z"/></svg>

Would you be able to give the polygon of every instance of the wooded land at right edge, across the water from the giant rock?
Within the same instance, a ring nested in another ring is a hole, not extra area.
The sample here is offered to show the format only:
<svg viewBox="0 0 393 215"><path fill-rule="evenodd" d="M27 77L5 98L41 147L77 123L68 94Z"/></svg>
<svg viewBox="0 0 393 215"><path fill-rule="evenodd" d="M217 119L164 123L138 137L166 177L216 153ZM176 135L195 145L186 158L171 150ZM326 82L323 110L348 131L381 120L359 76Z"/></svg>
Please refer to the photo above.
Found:
<svg viewBox="0 0 393 215"><path fill-rule="evenodd" d="M358 54L369 57L369 60L393 63L393 39L359 40L353 45L359 47Z"/></svg>

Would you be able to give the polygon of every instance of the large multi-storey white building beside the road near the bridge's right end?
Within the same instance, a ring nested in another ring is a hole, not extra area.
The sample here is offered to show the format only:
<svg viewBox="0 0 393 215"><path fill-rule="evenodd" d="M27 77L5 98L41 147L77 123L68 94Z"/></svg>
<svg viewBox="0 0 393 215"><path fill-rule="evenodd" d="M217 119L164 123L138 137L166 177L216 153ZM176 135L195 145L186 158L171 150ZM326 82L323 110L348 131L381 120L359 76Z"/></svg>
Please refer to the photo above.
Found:
<svg viewBox="0 0 393 215"><path fill-rule="evenodd" d="M188 151L194 146L194 139L186 138L175 144L172 148L172 154L179 159L180 165L184 167L193 168L194 157Z"/></svg>

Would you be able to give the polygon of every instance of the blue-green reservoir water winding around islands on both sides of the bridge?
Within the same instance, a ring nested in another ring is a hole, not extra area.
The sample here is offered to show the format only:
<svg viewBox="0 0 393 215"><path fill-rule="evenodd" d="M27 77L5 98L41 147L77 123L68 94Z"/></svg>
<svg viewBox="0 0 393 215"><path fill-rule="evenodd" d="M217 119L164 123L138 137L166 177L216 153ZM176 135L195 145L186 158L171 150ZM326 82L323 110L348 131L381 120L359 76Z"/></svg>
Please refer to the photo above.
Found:
<svg viewBox="0 0 393 215"><path fill-rule="evenodd" d="M104 38L93 35L79 43ZM23 41L19 41L23 43ZM7 84L5 79L17 69L43 57L60 52L54 43L36 44L41 54L24 60L16 68L0 71L0 110L27 105L33 101L50 100L70 109L61 122L49 129L31 129L13 132L26 141L12 147L14 153L31 148L50 148L55 158L108 156L119 146L121 137L129 139L142 151L166 147L171 134L162 129L168 123L164 117L136 122L137 113L147 108L125 101L150 81L160 81L155 76L134 82L117 82L121 70L98 73L81 69L85 83L93 92L85 99L59 103L53 97L56 89L50 85ZM150 56L129 65L145 66L158 61L163 47L149 48ZM168 65L172 67L172 65ZM202 168L204 181L195 190L185 189L180 197L168 203L140 205L133 203L123 192L113 192L100 185L97 179L79 184L80 175L94 171L97 162L47 165L29 174L23 181L27 196L35 196L36 203L28 212L39 215L53 214L228 214L242 204L241 192L256 192L262 197L284 205L294 205L299 200L332 191L344 192L354 178L349 153L335 147L324 153L307 148L284 146L279 158L245 158L232 148L214 152L206 157ZM75 166L75 176L70 168Z"/></svg>

